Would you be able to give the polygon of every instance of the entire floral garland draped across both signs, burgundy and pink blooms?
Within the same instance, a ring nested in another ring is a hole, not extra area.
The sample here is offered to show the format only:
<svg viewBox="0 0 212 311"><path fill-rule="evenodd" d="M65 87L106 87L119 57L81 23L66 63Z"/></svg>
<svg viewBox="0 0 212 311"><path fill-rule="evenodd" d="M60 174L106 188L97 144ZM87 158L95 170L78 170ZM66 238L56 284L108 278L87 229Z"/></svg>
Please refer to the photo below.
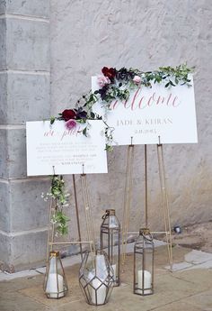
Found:
<svg viewBox="0 0 212 311"><path fill-rule="evenodd" d="M50 123L55 120L64 120L66 129L72 130L77 123L86 123L82 133L87 136L89 130L89 120L101 120L102 116L94 114L92 109L97 101L101 101L107 108L110 107L112 100L128 100L130 92L138 87L152 87L155 83L165 81L164 87L175 87L177 85L187 85L190 87L189 74L193 68L188 68L186 64L172 67L160 67L155 71L141 71L139 69L115 69L102 68L102 75L97 77L98 90L90 90L76 102L76 108L66 109L58 117L51 117ZM106 150L111 149L113 128L105 123L105 137L107 140Z"/></svg>

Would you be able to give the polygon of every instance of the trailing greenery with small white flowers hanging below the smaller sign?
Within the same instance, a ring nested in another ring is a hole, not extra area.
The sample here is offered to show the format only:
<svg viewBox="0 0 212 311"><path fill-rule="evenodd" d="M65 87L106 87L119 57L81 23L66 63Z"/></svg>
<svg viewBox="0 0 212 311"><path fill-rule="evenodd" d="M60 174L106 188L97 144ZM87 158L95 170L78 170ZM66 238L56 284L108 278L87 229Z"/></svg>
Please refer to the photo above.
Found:
<svg viewBox="0 0 212 311"><path fill-rule="evenodd" d="M53 175L51 177L51 188L46 196L41 197L47 201L49 198L55 202L55 211L51 217L51 223L55 225L56 235L68 233L67 222L69 218L64 214L64 208L68 206L67 198L70 195L66 192L65 181L62 176Z"/></svg>

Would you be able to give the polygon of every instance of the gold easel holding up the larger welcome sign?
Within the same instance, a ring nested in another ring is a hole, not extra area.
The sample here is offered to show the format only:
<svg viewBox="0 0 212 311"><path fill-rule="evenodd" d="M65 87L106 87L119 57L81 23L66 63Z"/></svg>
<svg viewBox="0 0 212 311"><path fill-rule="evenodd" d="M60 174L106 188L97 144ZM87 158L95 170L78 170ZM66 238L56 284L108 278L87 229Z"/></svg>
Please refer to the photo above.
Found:
<svg viewBox="0 0 212 311"><path fill-rule="evenodd" d="M158 136L157 144L157 159L158 159L158 169L160 178L160 187L162 194L162 208L163 208L163 224L164 231L151 231L153 234L165 233L167 242L167 252L168 260L170 264L170 270L172 270L172 228L170 220L170 210L166 187L165 169L164 169L164 159L163 159L163 144L161 143L160 136ZM133 151L130 151L132 149ZM131 206L131 192L132 192L132 167L134 157L130 156L130 153L134 153L134 145L128 146L128 160L126 169L126 187L125 187L125 202L123 211L123 224L122 224L122 264L125 263L126 259L126 249L127 249L127 238L128 234L137 234L128 232L129 224L129 208ZM130 168L130 169L129 169ZM148 227L148 178L147 178L147 146L145 144L145 224Z"/></svg>

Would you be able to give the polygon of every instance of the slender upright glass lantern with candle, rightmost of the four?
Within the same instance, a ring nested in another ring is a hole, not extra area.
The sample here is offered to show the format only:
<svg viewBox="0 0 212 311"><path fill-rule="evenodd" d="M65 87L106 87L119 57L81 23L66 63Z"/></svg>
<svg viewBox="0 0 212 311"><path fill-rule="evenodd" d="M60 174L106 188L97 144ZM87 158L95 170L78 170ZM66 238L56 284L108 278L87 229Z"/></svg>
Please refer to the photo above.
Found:
<svg viewBox="0 0 212 311"><path fill-rule="evenodd" d="M134 246L134 294L154 293L154 249L149 229L140 229Z"/></svg>

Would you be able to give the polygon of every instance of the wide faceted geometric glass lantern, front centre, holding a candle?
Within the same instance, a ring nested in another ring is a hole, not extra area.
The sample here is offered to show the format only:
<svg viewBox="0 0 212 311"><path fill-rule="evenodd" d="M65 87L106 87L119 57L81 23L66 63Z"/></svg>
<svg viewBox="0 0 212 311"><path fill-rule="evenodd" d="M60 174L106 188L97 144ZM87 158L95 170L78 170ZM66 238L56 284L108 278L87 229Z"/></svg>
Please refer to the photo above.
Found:
<svg viewBox="0 0 212 311"><path fill-rule="evenodd" d="M79 271L79 283L89 305L105 305L113 288L113 274L107 254L86 251Z"/></svg>

